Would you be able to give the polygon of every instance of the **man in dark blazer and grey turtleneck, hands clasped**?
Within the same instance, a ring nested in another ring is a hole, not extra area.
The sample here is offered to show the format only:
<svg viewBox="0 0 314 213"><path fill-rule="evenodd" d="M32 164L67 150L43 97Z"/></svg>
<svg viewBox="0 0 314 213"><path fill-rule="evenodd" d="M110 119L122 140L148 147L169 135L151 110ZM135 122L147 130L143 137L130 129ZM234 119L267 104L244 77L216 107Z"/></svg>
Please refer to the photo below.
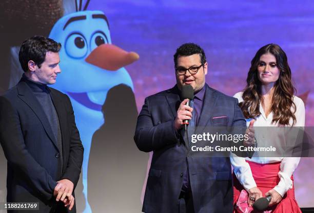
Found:
<svg viewBox="0 0 314 213"><path fill-rule="evenodd" d="M0 97L7 202L37 202L38 212L75 212L74 188L83 162L70 99L47 87L61 72L60 49L43 36L25 40L19 51L25 73Z"/></svg>

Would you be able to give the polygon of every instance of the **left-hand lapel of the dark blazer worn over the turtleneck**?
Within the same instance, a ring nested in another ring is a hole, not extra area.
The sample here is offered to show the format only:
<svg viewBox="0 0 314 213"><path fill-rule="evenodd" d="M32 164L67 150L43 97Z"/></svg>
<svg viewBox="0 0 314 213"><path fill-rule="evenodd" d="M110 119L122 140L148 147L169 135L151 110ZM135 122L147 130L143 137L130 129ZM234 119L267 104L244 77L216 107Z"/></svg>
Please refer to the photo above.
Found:
<svg viewBox="0 0 314 213"><path fill-rule="evenodd" d="M30 90L30 88L27 86L26 82L21 81L17 84L17 92L18 92L18 97L21 98L32 109L32 111L41 121L48 137L57 148L58 147L57 142L53 135L48 118L44 110L42 109L41 104L38 102L38 100L36 99L32 91Z"/></svg>

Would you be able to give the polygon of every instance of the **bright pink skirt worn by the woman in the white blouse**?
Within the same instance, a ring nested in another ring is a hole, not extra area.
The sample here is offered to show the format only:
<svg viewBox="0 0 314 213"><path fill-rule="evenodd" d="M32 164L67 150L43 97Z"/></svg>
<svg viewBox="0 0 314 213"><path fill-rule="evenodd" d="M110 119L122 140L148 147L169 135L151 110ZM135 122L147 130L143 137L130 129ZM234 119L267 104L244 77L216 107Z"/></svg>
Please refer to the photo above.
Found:
<svg viewBox="0 0 314 213"><path fill-rule="evenodd" d="M255 163L251 161L246 161L251 167L253 178L258 186L258 188L262 191L263 197L265 197L265 193L275 187L280 178L278 173L280 171L280 162L276 163ZM293 176L291 176L291 180L293 183ZM235 177L233 173L233 204L235 205L239 199L241 190L244 189L240 184L237 177ZM292 188L287 191L282 200L273 206L268 207L266 210L272 210L272 213L302 213L296 198L295 198L295 187L292 184ZM237 212L236 210L233 211ZM257 212L257 211L252 211Z"/></svg>

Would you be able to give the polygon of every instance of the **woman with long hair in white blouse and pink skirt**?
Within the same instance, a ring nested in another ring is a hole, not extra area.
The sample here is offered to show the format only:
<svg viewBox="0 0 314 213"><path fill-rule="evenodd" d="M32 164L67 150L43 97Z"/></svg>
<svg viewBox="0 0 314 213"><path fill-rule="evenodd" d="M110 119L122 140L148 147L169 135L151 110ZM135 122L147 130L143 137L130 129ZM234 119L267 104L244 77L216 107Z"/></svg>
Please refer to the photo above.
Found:
<svg viewBox="0 0 314 213"><path fill-rule="evenodd" d="M295 88L287 56L278 45L269 44L258 50L251 60L246 82L243 92L234 97L239 100L247 124L254 119L254 126L304 126L304 103L293 95ZM258 144L271 141L280 146L283 142L281 135L258 134L258 130L255 137ZM299 161L299 157L260 157L257 153L245 159L231 155L234 203L244 188L249 205L270 195L267 210L301 213L294 196L292 176Z"/></svg>

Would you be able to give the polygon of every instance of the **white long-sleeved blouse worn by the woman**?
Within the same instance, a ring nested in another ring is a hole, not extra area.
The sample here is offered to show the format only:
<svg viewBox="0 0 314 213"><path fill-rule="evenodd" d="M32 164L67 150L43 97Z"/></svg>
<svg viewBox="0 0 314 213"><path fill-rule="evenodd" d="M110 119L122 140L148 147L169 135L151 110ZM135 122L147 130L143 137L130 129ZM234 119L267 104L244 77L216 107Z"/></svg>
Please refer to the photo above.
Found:
<svg viewBox="0 0 314 213"><path fill-rule="evenodd" d="M238 98L239 103L240 103L243 101L242 95L243 95L243 92L238 92L233 97ZM293 96L293 102L296 104L296 108L297 108L295 112L295 116L296 116L295 126L304 127L305 125L304 103L297 96ZM261 115L256 118L256 121L254 122L254 126L278 126L277 123L272 123L272 118L273 118L272 112L268 115L268 117L266 117L262 104L260 104L260 112L261 112ZM247 121L246 124L248 126L251 119L247 119L246 121ZM289 123L290 123L290 126L293 123L293 120L291 118L290 118ZM283 144L283 142L285 142L283 141L283 137L281 134L269 134L269 132L263 133L263 131L262 133L258 133L256 131L254 136L258 143L262 142L263 144L267 144L268 141L271 141L271 143L275 147L276 146L280 147L280 144ZM231 153L230 161L233 166L233 172L235 176L237 176L242 186L246 190L248 190L252 187L256 187L257 185L253 179L250 166L247 162L245 162L245 160L256 162L256 163L261 163L261 164L281 162L280 172L278 173L280 181L278 185L274 187L274 190L276 190L283 197L284 194L287 192L287 190L292 188L292 181L290 177L292 173L295 171L295 169L297 168L300 162L300 157L261 157L258 155L258 153L254 153L252 158L241 158L241 157L235 157L235 155Z"/></svg>

